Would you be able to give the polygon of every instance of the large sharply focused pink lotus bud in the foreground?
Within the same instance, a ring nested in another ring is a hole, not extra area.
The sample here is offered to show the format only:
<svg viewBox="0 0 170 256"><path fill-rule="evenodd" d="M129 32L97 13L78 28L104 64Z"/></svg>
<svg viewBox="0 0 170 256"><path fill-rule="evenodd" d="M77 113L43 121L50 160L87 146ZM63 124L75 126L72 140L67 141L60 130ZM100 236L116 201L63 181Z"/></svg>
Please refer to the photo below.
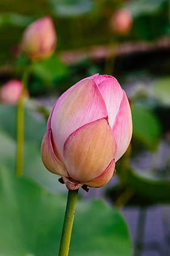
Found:
<svg viewBox="0 0 170 256"><path fill-rule="evenodd" d="M61 175L67 188L102 187L132 137L126 94L110 75L92 75L56 101L42 140L47 170Z"/></svg>

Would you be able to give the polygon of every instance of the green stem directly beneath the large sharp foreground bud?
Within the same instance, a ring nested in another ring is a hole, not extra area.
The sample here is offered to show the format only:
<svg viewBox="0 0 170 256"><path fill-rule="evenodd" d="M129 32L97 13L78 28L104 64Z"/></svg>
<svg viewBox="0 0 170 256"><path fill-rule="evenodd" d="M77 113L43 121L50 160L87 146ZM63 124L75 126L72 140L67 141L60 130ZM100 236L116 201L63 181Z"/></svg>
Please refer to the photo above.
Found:
<svg viewBox="0 0 170 256"><path fill-rule="evenodd" d="M63 232L60 241L60 250L58 256L69 255L70 238L72 235L73 219L77 203L78 190L69 190L67 197L67 206L64 217Z"/></svg>

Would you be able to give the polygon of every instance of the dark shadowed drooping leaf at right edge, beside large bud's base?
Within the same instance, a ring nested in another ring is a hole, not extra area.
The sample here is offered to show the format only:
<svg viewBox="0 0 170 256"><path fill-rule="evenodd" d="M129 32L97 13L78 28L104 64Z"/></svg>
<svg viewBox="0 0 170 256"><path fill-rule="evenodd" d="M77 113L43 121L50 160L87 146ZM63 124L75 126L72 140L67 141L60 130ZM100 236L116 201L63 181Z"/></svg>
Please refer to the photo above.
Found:
<svg viewBox="0 0 170 256"><path fill-rule="evenodd" d="M122 170L120 162L118 164L117 170L123 183L109 187L106 192L113 203L135 207L170 203L170 181L167 176L160 178L151 170L125 170L124 165Z"/></svg>

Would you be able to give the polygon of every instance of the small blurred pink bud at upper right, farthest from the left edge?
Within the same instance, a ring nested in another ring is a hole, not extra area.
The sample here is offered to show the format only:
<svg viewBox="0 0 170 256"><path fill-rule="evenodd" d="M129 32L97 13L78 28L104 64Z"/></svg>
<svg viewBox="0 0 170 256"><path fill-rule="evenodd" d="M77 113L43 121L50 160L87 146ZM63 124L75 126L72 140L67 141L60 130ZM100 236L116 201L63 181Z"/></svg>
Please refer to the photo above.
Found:
<svg viewBox="0 0 170 256"><path fill-rule="evenodd" d="M132 27L132 15L127 9L120 9L114 13L110 21L112 29L120 34L126 34Z"/></svg>

